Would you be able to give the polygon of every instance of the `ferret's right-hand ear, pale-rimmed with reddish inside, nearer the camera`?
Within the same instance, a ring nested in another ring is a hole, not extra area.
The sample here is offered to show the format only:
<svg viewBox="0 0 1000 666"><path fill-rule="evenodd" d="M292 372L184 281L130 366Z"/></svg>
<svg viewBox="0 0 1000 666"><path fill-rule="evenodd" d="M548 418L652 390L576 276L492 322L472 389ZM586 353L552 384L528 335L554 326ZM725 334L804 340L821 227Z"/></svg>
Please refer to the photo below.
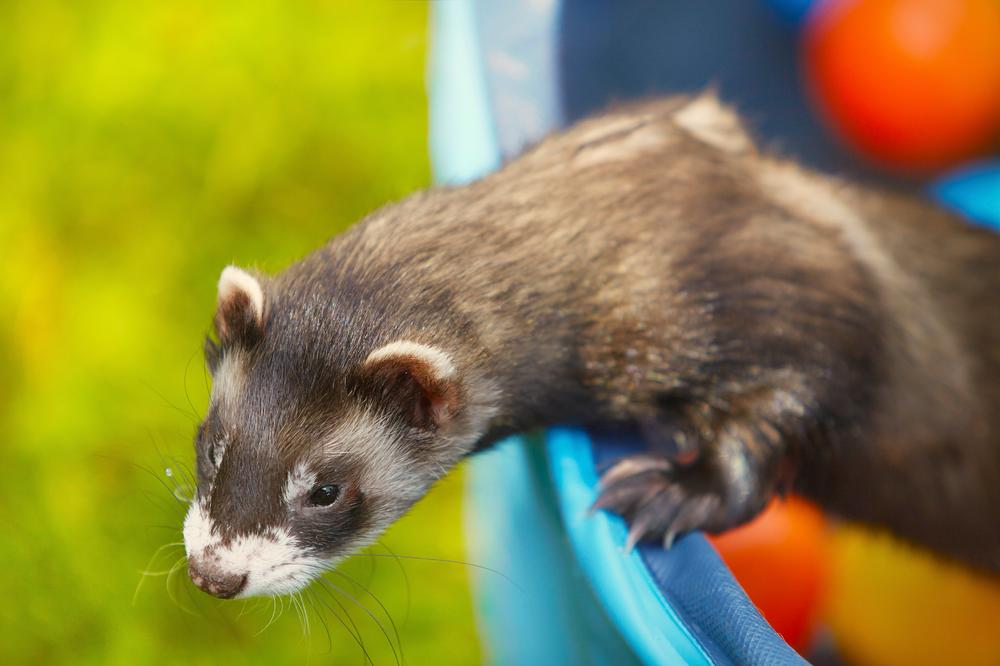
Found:
<svg viewBox="0 0 1000 666"><path fill-rule="evenodd" d="M364 363L380 397L397 405L412 425L443 428L458 411L451 358L437 347L400 340L376 349Z"/></svg>

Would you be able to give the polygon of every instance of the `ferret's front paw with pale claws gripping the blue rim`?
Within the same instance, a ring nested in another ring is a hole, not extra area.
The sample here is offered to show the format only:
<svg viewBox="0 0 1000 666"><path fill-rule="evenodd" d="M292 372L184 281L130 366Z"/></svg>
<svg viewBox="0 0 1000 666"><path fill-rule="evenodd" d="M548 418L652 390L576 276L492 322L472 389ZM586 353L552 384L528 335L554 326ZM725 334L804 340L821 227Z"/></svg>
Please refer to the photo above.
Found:
<svg viewBox="0 0 1000 666"><path fill-rule="evenodd" d="M601 477L601 493L592 509L608 509L625 518L626 550L654 539L669 548L687 532L728 527L733 512L716 486L711 468L701 461L681 466L663 456L637 454L623 458Z"/></svg>

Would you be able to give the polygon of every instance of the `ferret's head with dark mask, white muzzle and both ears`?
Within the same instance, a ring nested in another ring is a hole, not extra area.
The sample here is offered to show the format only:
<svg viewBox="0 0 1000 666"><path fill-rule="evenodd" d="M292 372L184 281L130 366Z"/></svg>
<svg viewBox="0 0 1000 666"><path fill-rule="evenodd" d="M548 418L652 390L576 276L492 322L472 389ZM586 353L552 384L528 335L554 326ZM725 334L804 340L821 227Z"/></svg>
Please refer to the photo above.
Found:
<svg viewBox="0 0 1000 666"><path fill-rule="evenodd" d="M184 542L192 581L222 598L304 587L372 542L481 429L446 351L332 330L343 320L318 301L268 287L223 271L218 343L206 341L212 396Z"/></svg>

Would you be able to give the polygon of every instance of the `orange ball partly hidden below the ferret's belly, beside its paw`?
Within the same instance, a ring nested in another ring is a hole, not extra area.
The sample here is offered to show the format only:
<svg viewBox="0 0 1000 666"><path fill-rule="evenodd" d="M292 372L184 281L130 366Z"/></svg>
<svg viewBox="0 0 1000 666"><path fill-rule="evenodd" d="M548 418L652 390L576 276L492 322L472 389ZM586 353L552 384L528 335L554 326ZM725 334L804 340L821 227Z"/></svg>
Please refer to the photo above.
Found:
<svg viewBox="0 0 1000 666"><path fill-rule="evenodd" d="M806 651L823 610L829 565L823 515L775 500L750 523L710 537L750 600L782 638Z"/></svg>

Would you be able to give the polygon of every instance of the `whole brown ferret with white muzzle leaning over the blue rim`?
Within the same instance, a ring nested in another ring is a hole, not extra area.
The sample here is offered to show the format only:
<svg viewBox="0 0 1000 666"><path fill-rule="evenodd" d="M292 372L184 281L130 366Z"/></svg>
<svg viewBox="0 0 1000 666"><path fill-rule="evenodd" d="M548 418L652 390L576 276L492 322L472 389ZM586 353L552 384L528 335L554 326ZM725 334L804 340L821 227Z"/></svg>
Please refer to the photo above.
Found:
<svg viewBox="0 0 1000 666"><path fill-rule="evenodd" d="M1000 574L1000 237L759 149L713 95L622 106L226 268L184 520L222 598L295 591L465 456L632 429L629 545L779 493Z"/></svg>

